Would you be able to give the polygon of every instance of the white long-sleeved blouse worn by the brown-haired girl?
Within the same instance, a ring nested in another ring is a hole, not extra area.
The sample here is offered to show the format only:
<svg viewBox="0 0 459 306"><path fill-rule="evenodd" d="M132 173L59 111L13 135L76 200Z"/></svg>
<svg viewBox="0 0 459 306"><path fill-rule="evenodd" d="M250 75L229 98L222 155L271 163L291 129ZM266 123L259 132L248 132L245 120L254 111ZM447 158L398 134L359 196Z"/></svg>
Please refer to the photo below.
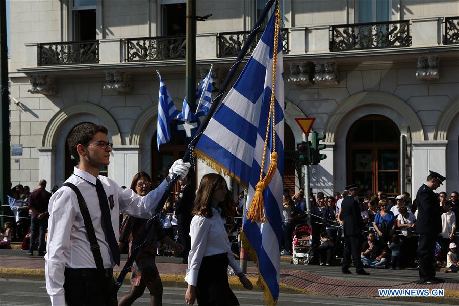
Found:
<svg viewBox="0 0 459 306"><path fill-rule="evenodd" d="M211 218L196 215L191 220L191 250L188 254L188 269L186 269L185 281L192 286L197 285L199 268L204 256L227 253L230 267L233 268L234 273L242 272L231 251L225 220L220 216L217 209L213 207L212 214Z"/></svg>

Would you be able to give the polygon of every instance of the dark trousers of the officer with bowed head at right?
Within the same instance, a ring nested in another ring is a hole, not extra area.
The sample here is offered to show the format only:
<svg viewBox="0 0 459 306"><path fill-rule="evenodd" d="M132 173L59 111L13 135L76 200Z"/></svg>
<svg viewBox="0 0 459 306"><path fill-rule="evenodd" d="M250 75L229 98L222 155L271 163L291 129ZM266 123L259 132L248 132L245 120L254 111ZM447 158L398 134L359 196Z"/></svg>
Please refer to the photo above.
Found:
<svg viewBox="0 0 459 306"><path fill-rule="evenodd" d="M436 234L419 234L418 263L421 282L435 277L433 253L435 252Z"/></svg>

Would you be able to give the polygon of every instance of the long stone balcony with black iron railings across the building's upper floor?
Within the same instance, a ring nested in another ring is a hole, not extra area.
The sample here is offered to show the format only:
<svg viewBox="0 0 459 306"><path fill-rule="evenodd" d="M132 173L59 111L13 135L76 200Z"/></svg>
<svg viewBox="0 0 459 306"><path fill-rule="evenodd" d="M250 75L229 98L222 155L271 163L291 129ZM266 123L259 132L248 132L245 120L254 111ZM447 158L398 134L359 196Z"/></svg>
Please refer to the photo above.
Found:
<svg viewBox="0 0 459 306"><path fill-rule="evenodd" d="M314 60L365 55L409 56L432 52L433 48L435 52L457 50L458 19L435 17L282 29L284 58ZM231 64L248 33L197 34L196 62ZM257 40L259 38L260 35L257 35ZM25 44L26 65L19 72L183 66L185 42L185 37L177 36Z"/></svg>

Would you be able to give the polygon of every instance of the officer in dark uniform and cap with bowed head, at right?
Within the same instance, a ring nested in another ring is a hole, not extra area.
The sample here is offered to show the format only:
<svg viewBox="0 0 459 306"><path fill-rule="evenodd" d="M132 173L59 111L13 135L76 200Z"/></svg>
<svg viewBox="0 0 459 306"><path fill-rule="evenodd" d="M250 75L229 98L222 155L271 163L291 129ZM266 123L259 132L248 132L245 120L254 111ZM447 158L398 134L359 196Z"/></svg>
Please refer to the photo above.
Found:
<svg viewBox="0 0 459 306"><path fill-rule="evenodd" d="M437 172L430 171L424 184L416 194L418 205L418 218L416 220L416 232L419 233L418 260L419 260L419 283L438 284L443 280L435 277L433 266L433 254L435 241L442 231L443 210L438 197L433 190L437 189L445 177Z"/></svg>

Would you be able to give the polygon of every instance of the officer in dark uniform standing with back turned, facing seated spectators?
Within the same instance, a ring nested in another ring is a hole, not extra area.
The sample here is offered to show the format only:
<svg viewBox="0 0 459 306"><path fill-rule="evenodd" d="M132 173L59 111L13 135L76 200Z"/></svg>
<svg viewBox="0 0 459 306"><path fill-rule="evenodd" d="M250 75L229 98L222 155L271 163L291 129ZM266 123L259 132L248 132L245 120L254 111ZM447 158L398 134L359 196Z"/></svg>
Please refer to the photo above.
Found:
<svg viewBox="0 0 459 306"><path fill-rule="evenodd" d="M352 184L346 186L346 190L348 190L349 193L341 203L341 212L339 214L339 219L344 223L344 254L341 272L344 274L352 273L349 271L350 258L352 255L357 274L370 275L370 273L363 269L363 264L360 260L360 238L362 236L364 222L360 215L359 203L354 199L357 195L357 185Z"/></svg>

